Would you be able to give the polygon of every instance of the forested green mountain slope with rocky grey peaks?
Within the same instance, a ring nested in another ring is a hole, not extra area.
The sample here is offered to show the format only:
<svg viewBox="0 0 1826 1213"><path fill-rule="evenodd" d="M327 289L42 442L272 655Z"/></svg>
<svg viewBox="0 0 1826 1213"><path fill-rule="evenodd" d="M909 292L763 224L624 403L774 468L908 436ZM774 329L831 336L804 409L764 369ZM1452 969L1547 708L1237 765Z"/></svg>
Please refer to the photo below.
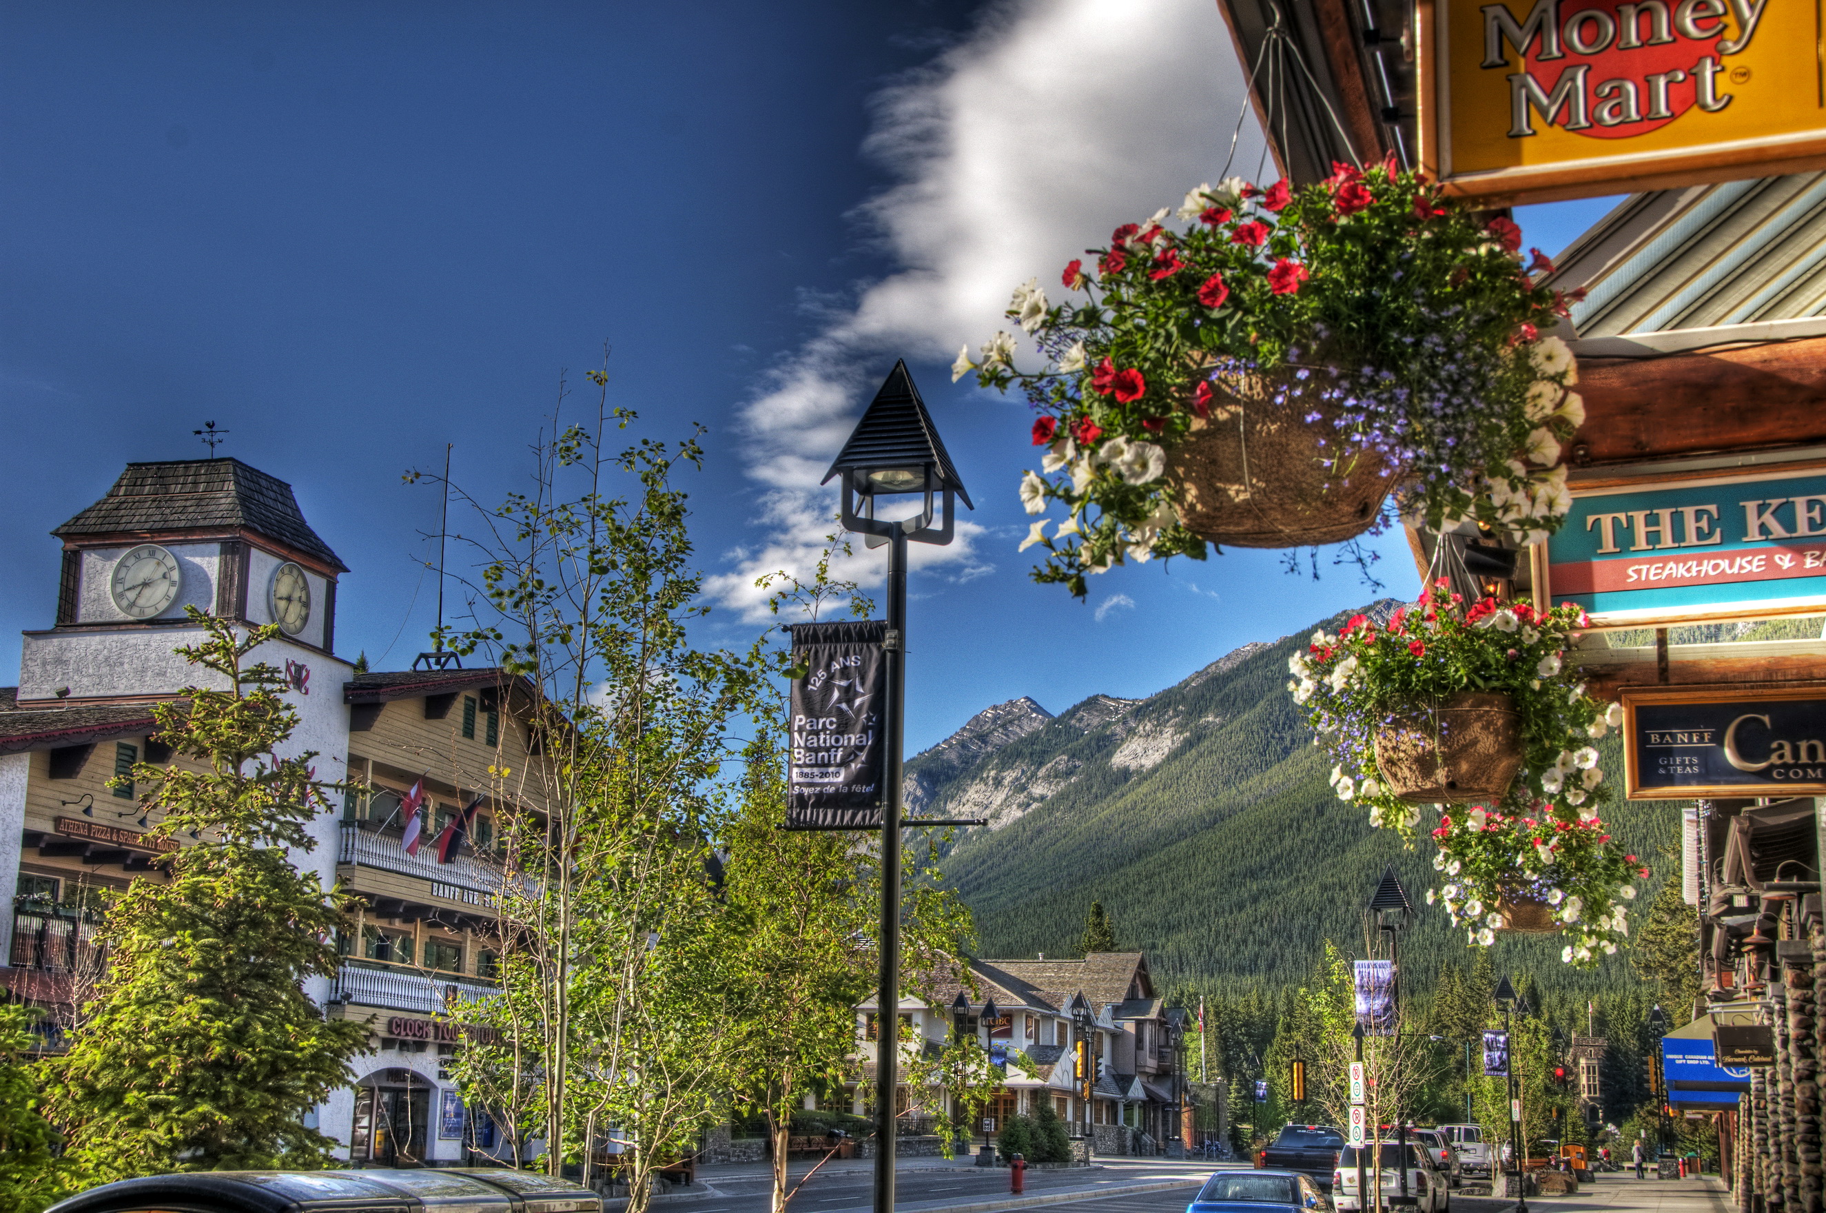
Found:
<svg viewBox="0 0 1826 1213"><path fill-rule="evenodd" d="M1349 614L1313 627L1337 628ZM1055 718L1032 700L1001 703L913 758L908 804L918 787L920 817L988 818L942 860L975 913L982 955L1074 955L1097 899L1118 944L1145 948L1160 977L1296 983L1326 939L1364 954L1362 906L1391 864L1419 910L1404 966L1470 959L1463 935L1424 904L1432 848L1404 851L1326 780L1329 760L1287 694L1287 658L1311 630L1244 645L1143 700L1092 696ZM1605 767L1621 771L1609 742ZM1680 807L1621 804L1609 820L1654 857L1676 842ZM1512 935L1495 961L1574 988L1625 979L1623 957L1574 976L1559 946L1554 935Z"/></svg>

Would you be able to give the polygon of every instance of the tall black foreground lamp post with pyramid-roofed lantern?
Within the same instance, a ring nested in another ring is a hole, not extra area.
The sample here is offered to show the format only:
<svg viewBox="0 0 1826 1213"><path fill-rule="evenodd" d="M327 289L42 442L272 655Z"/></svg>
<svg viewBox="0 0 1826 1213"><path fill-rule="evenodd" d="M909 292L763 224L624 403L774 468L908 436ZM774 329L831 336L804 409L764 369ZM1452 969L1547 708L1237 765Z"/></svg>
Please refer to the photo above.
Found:
<svg viewBox="0 0 1826 1213"><path fill-rule="evenodd" d="M931 415L908 374L895 362L882 389L862 413L824 482L842 477L844 530L869 548L887 544L887 630L882 639L887 701L882 705L882 928L878 1014L882 1032L875 1052L875 1213L895 1208L895 1080L898 1072L900 1014L900 756L906 736L906 627L908 543L944 546L955 533L955 499L975 510L951 457L939 440ZM924 508L911 519L876 517L876 499L917 493ZM939 519L939 526L933 526ZM962 996L959 996L962 997ZM968 1003L966 1003L968 1007Z"/></svg>

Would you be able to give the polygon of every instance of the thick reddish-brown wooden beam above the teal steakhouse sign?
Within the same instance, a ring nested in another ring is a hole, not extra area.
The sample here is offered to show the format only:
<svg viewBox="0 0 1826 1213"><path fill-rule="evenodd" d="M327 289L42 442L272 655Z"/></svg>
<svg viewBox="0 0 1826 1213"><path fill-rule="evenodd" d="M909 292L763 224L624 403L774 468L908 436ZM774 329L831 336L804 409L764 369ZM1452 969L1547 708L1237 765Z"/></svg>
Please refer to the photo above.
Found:
<svg viewBox="0 0 1826 1213"><path fill-rule="evenodd" d="M1826 442L1826 336L1579 362L1578 468Z"/></svg>

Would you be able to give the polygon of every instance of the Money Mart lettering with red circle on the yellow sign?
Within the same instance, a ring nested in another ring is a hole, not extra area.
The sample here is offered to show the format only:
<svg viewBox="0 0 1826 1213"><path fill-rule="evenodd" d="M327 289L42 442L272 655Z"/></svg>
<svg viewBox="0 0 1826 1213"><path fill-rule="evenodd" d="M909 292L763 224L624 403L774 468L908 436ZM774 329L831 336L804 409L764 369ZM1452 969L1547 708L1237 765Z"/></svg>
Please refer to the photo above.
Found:
<svg viewBox="0 0 1826 1213"><path fill-rule="evenodd" d="M1537 0L1525 18L1506 4L1483 13L1485 69L1508 79L1508 137L1536 133L1534 121L1600 137L1663 126L1691 106L1718 113L1731 104L1718 75L1724 57L1749 49L1769 0L1642 0L1574 7ZM1726 18L1735 22L1735 37ZM1735 77L1727 77L1735 79Z"/></svg>

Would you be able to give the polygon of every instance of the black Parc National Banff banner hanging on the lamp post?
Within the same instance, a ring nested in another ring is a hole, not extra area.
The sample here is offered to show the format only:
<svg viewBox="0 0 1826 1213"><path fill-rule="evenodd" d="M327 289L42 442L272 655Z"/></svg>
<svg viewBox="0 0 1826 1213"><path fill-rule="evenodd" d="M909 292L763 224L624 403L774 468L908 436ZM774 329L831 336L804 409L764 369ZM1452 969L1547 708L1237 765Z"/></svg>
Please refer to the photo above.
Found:
<svg viewBox="0 0 1826 1213"><path fill-rule="evenodd" d="M886 625L792 625L787 829L880 829Z"/></svg>

